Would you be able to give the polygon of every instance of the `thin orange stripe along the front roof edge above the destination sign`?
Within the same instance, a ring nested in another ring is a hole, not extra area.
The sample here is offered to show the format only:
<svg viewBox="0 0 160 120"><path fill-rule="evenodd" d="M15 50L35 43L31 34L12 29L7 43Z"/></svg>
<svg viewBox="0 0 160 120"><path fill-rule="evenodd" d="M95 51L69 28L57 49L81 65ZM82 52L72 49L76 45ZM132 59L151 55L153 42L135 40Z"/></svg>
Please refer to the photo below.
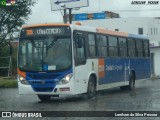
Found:
<svg viewBox="0 0 160 120"><path fill-rule="evenodd" d="M26 25L23 26L22 28L34 28L34 27L50 27L50 26L69 26L69 24L36 24L36 25Z"/></svg>

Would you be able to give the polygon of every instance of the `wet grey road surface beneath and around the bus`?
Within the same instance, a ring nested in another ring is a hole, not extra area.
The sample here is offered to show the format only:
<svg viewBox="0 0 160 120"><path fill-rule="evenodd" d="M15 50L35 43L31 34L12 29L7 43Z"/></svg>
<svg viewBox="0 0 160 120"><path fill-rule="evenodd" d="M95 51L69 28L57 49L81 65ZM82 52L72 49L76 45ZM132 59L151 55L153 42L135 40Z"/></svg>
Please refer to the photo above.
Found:
<svg viewBox="0 0 160 120"><path fill-rule="evenodd" d="M97 93L96 97L92 99L82 99L78 97L70 99L61 99L61 100L52 99L51 101L45 103L39 101L38 97L35 95L19 95L17 88L0 89L0 111L16 111L16 110L18 111L160 111L160 80L157 79L157 80L140 81L136 83L136 89L135 91L132 92L129 90L122 91L119 88L114 88L105 91L100 91ZM65 118L65 119L71 119L71 118ZM98 118L94 119L98 120ZM110 119L115 119L115 118L110 118Z"/></svg>

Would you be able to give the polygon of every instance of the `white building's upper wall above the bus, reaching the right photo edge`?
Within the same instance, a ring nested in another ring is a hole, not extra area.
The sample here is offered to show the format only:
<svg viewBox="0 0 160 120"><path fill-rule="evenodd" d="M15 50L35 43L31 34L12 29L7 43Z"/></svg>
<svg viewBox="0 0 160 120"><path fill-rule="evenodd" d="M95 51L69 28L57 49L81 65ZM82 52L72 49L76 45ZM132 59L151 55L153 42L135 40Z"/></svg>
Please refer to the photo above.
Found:
<svg viewBox="0 0 160 120"><path fill-rule="evenodd" d="M79 21L82 25L101 27L109 30L119 29L121 32L138 34L138 28L143 28L143 35L149 35L151 41L160 40L160 19L149 17L114 18L102 20ZM152 34L151 34L152 28ZM153 33L155 29L156 33Z"/></svg>

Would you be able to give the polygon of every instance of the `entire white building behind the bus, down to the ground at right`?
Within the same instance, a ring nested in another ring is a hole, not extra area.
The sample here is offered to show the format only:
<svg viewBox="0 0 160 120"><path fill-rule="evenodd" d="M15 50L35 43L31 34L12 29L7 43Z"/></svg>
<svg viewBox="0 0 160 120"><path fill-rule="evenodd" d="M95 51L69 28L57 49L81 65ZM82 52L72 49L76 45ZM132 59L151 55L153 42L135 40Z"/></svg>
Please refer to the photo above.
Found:
<svg viewBox="0 0 160 120"><path fill-rule="evenodd" d="M151 47L152 76L160 77L160 18L114 18L79 21L82 25L102 27L109 30L148 35Z"/></svg>

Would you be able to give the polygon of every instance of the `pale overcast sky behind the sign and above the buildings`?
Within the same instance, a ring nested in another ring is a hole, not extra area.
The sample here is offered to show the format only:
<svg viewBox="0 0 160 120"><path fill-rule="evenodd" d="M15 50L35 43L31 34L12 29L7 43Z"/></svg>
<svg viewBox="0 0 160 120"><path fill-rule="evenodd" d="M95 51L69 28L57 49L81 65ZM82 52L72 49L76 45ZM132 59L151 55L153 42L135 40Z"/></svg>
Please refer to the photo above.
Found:
<svg viewBox="0 0 160 120"><path fill-rule="evenodd" d="M27 24L62 22L60 11L51 11L50 0L36 0L32 15ZM160 17L160 0L158 5L131 5L133 0L89 0L89 7L83 7L73 13L90 13L113 11L121 17ZM145 1L145 0L143 0ZM149 0L146 0L148 2Z"/></svg>

